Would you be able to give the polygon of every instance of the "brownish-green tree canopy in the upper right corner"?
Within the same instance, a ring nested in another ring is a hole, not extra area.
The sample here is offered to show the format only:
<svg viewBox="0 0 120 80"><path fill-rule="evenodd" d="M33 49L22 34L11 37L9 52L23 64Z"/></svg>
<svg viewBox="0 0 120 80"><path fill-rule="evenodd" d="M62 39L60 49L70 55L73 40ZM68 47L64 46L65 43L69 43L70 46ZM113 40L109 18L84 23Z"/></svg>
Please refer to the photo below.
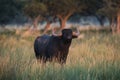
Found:
<svg viewBox="0 0 120 80"><path fill-rule="evenodd" d="M98 13L101 15L105 15L110 20L117 16L119 10L119 0L103 0L103 7L98 10ZM108 15L109 14L109 15Z"/></svg>

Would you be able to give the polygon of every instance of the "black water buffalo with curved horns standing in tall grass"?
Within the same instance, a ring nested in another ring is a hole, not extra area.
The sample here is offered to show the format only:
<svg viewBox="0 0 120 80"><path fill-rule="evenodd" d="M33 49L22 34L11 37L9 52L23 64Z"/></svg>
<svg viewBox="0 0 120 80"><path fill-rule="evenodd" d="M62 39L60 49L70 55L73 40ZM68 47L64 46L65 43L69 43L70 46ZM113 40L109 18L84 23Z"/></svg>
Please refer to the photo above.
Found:
<svg viewBox="0 0 120 80"><path fill-rule="evenodd" d="M62 33L39 36L34 42L34 51L37 60L57 61L60 64L66 62L69 47L73 38L77 38L79 32L72 32L71 29L63 29Z"/></svg>

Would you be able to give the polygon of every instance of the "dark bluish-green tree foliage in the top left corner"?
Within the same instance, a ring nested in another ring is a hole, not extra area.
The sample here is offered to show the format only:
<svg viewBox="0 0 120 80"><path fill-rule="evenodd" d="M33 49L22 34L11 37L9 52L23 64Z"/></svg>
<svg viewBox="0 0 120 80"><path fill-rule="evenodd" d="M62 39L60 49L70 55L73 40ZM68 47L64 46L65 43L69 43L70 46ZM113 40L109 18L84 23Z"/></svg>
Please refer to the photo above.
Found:
<svg viewBox="0 0 120 80"><path fill-rule="evenodd" d="M23 1L0 0L0 24L7 24L22 10Z"/></svg>

